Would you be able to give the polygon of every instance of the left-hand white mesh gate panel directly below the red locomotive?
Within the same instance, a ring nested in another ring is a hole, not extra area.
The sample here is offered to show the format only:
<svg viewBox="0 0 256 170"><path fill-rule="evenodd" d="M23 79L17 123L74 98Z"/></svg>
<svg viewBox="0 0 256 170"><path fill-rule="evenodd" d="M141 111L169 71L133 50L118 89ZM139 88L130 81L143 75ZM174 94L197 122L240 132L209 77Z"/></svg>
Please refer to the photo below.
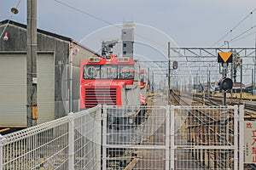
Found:
<svg viewBox="0 0 256 170"><path fill-rule="evenodd" d="M102 169L169 169L169 107L103 108Z"/></svg>

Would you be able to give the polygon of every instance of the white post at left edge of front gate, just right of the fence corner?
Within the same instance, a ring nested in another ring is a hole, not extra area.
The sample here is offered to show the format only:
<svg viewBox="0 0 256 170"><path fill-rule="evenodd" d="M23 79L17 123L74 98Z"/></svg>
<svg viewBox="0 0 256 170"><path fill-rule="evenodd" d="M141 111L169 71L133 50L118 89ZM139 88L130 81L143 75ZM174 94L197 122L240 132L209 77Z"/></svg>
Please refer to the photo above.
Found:
<svg viewBox="0 0 256 170"><path fill-rule="evenodd" d="M107 169L107 105L103 105L102 127L102 170Z"/></svg>

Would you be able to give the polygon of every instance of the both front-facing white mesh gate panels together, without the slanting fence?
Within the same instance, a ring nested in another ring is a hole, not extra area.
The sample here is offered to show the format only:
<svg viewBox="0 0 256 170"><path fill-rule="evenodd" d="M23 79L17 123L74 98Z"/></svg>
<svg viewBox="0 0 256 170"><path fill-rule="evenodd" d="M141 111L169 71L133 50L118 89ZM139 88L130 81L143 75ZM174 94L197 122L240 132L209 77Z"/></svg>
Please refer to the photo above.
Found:
<svg viewBox="0 0 256 170"><path fill-rule="evenodd" d="M104 107L102 169L243 169L237 106L137 109Z"/></svg>

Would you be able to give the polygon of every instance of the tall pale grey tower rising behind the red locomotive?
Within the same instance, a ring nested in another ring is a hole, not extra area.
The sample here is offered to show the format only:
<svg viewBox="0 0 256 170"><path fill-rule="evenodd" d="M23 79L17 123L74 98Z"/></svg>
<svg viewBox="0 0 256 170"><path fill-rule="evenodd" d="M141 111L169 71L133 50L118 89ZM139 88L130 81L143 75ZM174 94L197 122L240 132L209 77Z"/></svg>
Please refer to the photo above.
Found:
<svg viewBox="0 0 256 170"><path fill-rule="evenodd" d="M133 43L134 43L134 28L133 22L124 22L122 29L122 42L123 42L123 57L133 59Z"/></svg>

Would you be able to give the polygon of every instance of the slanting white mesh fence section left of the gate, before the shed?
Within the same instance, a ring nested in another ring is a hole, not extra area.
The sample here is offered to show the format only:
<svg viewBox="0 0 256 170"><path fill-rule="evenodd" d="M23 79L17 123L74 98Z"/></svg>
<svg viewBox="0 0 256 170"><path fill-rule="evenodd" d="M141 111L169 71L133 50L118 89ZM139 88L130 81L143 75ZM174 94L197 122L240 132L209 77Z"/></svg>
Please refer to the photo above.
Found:
<svg viewBox="0 0 256 170"><path fill-rule="evenodd" d="M101 169L101 107L0 135L0 170Z"/></svg>

